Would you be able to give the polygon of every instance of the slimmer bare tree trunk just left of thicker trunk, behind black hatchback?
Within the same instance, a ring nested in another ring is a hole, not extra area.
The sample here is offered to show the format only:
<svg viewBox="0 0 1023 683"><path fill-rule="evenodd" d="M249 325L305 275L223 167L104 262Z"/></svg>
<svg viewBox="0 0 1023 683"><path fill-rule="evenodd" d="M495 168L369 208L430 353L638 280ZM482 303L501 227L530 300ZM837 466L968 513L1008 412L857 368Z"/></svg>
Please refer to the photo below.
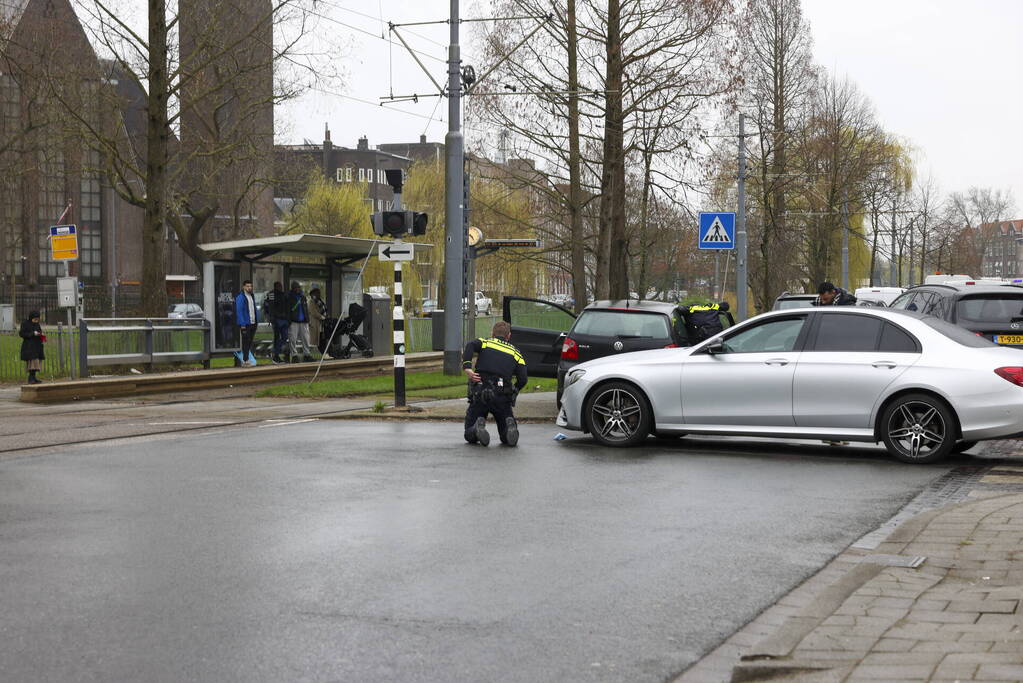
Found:
<svg viewBox="0 0 1023 683"><path fill-rule="evenodd" d="M586 251L582 216L581 153L579 150L579 35L575 0L568 0L569 52L569 221L572 234L572 297L576 311L586 306Z"/></svg>

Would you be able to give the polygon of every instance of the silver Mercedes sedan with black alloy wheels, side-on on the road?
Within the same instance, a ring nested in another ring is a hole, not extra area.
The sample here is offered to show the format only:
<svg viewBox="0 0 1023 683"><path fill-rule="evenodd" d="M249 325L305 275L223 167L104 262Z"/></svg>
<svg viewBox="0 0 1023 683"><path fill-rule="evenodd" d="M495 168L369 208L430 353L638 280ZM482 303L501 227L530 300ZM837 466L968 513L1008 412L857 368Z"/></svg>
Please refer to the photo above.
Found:
<svg viewBox="0 0 1023 683"><path fill-rule="evenodd" d="M687 349L576 366L558 424L607 446L686 434L883 442L932 462L1023 432L1023 347L891 309L775 311Z"/></svg>

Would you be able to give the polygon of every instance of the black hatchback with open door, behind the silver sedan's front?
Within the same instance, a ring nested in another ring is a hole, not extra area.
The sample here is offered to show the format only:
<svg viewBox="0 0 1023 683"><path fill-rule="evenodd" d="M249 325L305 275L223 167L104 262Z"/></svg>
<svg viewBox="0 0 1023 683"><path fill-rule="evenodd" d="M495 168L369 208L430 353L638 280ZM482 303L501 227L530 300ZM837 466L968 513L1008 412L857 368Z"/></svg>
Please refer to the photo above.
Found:
<svg viewBox="0 0 1023 683"><path fill-rule="evenodd" d="M552 310L545 312L544 307ZM533 326L544 317L553 323L549 328ZM551 302L505 297L504 320L511 324L511 343L525 357L529 374L558 378L559 400L566 373L579 363L633 351L690 346L682 308L664 302L598 301L576 317ZM721 324L735 324L730 313L721 313Z"/></svg>

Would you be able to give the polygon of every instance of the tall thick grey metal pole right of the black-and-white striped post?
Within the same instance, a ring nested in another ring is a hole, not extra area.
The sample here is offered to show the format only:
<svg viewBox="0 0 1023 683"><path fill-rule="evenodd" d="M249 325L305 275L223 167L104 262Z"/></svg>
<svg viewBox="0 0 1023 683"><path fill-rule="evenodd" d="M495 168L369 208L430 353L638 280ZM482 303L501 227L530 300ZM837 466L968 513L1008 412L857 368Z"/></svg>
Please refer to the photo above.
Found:
<svg viewBox="0 0 1023 683"><path fill-rule="evenodd" d="M458 48L458 0L451 0L451 44L448 46L448 133L444 235L444 372L461 372L462 176L461 56ZM466 302L468 303L468 302Z"/></svg>

